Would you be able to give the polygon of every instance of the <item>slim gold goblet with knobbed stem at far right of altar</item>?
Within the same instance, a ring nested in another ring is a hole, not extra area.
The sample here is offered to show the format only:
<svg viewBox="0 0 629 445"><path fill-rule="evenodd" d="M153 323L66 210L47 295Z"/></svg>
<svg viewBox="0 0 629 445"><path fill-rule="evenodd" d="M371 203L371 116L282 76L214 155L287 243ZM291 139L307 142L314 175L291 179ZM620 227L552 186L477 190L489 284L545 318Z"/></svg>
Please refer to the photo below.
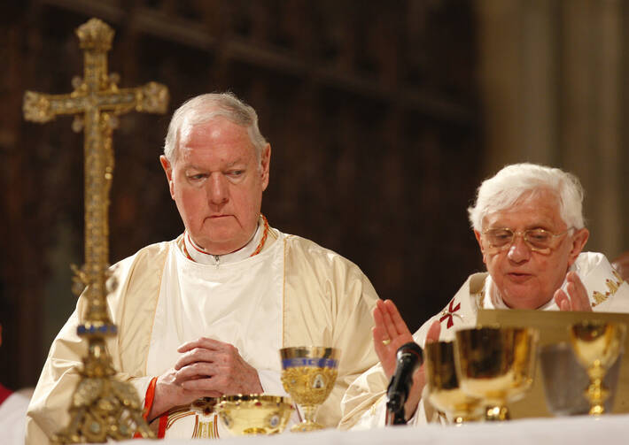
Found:
<svg viewBox="0 0 629 445"><path fill-rule="evenodd" d="M586 399L590 403L590 415L600 416L605 412L603 403L610 395L602 380L625 345L626 326L621 323L582 321L570 328L570 340L574 355L586 368L590 384L586 388Z"/></svg>

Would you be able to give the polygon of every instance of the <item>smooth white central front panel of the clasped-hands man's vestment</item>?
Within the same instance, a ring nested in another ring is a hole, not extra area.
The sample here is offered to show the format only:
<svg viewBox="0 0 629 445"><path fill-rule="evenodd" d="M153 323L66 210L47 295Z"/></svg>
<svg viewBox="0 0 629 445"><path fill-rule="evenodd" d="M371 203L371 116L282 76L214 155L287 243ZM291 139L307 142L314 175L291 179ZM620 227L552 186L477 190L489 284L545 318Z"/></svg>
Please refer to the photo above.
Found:
<svg viewBox="0 0 629 445"><path fill-rule="evenodd" d="M189 237L186 247L194 261L182 249L168 251L146 364L149 375L171 368L182 356L177 348L183 343L207 337L235 346L258 371L265 394L287 395L280 381L278 352L282 348L283 243L275 242L263 255L249 258L260 233L238 257L221 256L219 265L214 256L202 263L203 254L195 252ZM279 234L279 240L283 236ZM166 437L191 435L230 434L214 412L177 410Z"/></svg>

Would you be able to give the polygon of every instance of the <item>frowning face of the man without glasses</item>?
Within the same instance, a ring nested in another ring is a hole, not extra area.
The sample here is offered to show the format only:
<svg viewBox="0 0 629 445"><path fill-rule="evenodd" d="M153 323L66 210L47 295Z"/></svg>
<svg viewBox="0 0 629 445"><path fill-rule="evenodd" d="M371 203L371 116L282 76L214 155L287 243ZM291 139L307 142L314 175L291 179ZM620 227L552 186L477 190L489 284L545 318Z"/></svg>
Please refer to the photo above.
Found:
<svg viewBox="0 0 629 445"><path fill-rule="evenodd" d="M224 118L182 127L171 164L160 157L190 237L214 255L242 248L258 224L270 146L259 163L247 129Z"/></svg>

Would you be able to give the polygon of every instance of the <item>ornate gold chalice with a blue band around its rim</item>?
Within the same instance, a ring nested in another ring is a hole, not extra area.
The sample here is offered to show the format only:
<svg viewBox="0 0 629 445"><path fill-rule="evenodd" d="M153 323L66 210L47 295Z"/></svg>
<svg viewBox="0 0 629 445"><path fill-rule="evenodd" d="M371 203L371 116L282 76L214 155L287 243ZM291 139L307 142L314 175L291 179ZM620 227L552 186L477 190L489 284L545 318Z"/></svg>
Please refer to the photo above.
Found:
<svg viewBox="0 0 629 445"><path fill-rule="evenodd" d="M292 432L323 428L314 415L337 380L339 354L338 349L320 346L280 349L283 387L304 410L304 420L292 426Z"/></svg>

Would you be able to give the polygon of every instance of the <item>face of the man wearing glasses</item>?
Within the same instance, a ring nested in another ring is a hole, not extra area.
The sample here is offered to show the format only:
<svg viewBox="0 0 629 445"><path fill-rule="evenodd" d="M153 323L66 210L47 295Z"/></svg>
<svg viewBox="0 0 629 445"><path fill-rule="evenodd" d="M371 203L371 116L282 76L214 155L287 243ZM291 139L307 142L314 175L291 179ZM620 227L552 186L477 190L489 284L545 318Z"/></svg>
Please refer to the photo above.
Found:
<svg viewBox="0 0 629 445"><path fill-rule="evenodd" d="M549 190L524 194L509 209L496 211L483 219L483 231L509 228L524 232L541 228L562 234L570 227L559 214L559 201ZM513 309L537 309L553 297L568 268L587 241L587 229L573 230L555 237L553 249L541 253L531 249L524 237L516 235L511 244L493 248L485 236L475 231L483 262L502 300Z"/></svg>

